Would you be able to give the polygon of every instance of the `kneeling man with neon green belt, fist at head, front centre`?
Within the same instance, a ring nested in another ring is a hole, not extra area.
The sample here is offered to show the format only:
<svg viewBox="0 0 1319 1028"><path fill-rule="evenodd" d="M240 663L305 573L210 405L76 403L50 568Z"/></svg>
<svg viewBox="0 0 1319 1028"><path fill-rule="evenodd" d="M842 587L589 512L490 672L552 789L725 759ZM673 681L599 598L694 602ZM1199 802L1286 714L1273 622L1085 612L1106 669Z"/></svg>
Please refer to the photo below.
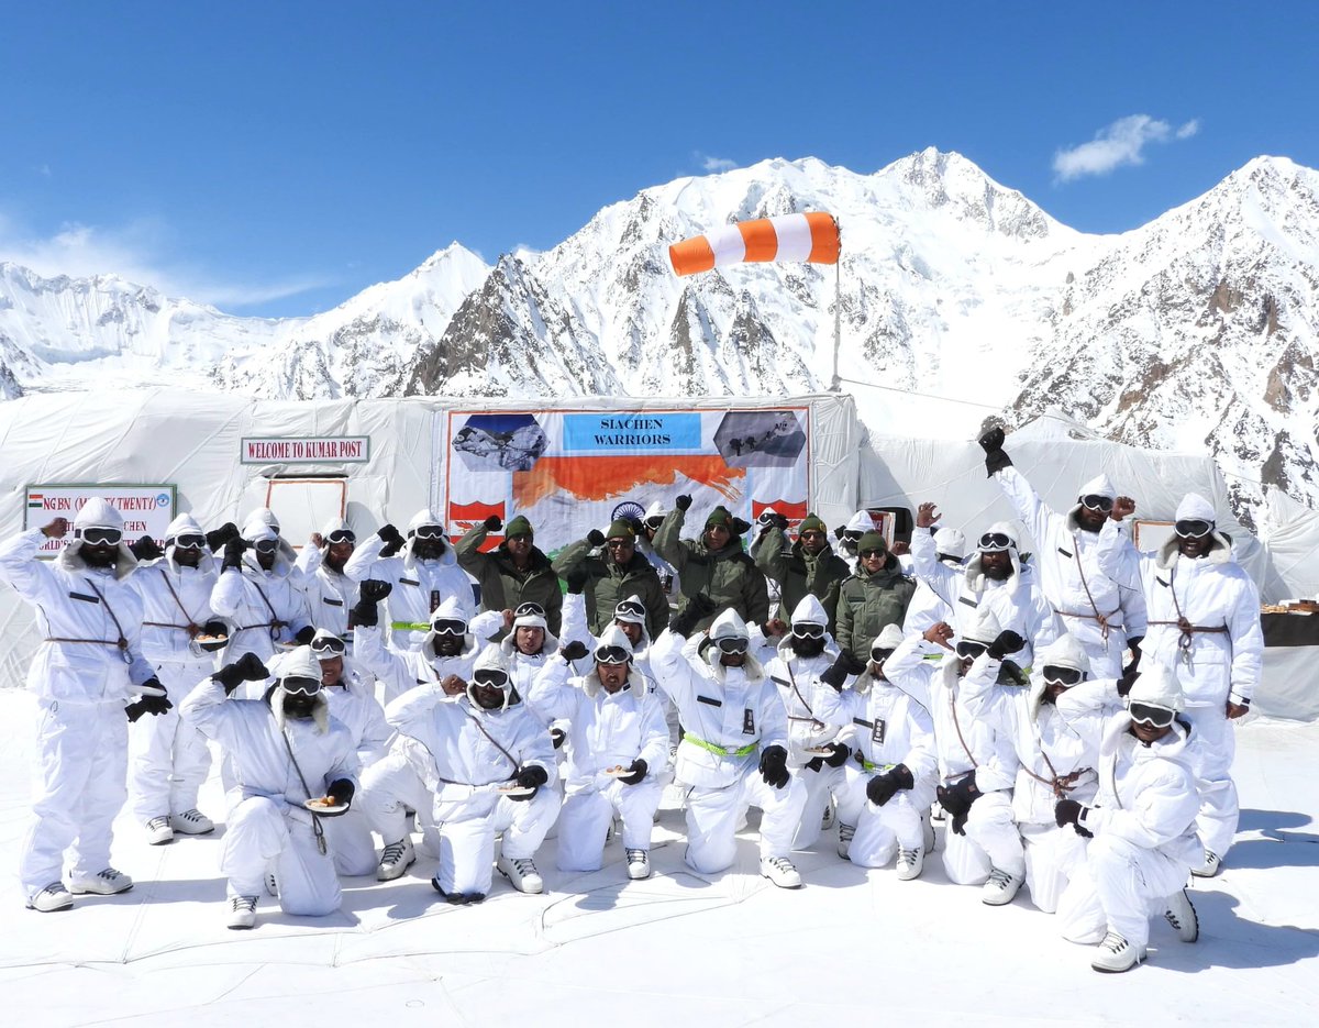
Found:
<svg viewBox="0 0 1319 1028"><path fill-rule="evenodd" d="M737 819L761 809L760 872L780 888L802 876L789 856L806 787L787 771L787 717L778 690L749 652L747 624L725 610L710 635L686 635L714 611L696 594L650 648L660 688L678 706L685 734L674 777L687 785L686 860L702 874L732 866Z"/></svg>

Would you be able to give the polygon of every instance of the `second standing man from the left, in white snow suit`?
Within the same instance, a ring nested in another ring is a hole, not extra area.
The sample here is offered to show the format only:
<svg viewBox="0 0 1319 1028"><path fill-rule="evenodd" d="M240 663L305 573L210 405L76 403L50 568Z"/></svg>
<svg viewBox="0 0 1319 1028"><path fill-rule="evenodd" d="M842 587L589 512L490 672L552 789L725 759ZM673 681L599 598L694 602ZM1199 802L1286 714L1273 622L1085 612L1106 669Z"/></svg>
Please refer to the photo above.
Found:
<svg viewBox="0 0 1319 1028"><path fill-rule="evenodd" d="M228 639L228 626L211 611L219 570L206 534L191 515L179 515L165 529L164 557L140 563L125 581L142 602L142 656L181 703L215 668L214 655ZM133 813L158 846L174 834L204 835L215 830L197 809L197 794L211 767L204 736L178 710L140 719L131 730Z"/></svg>

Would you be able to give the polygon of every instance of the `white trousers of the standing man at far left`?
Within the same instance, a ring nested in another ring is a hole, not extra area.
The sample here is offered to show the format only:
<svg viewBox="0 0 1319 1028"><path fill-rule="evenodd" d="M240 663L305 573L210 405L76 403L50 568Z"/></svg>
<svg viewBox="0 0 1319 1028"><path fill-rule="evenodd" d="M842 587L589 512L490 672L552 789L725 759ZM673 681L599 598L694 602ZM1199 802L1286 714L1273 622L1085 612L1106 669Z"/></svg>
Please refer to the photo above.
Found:
<svg viewBox="0 0 1319 1028"><path fill-rule="evenodd" d="M109 867L111 826L128 797L124 705L38 701L36 756L32 823L18 855L28 899L59 882L66 851L74 875Z"/></svg>

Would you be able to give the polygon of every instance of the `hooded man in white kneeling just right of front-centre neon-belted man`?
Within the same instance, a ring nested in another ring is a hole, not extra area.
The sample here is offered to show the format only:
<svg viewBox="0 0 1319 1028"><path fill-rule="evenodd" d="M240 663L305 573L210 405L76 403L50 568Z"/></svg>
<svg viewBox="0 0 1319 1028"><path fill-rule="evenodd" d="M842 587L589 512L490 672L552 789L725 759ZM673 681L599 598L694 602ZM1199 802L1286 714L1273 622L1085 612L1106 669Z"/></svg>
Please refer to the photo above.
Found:
<svg viewBox="0 0 1319 1028"><path fill-rule="evenodd" d="M852 750L847 744L848 726L840 731L816 711L820 697L834 691L820 676L838 656L824 604L807 594L791 615L791 632L780 641L765 673L787 714L787 768L806 787L806 808L793 837L793 849L805 850L819 838L820 816L842 794L843 765Z"/></svg>

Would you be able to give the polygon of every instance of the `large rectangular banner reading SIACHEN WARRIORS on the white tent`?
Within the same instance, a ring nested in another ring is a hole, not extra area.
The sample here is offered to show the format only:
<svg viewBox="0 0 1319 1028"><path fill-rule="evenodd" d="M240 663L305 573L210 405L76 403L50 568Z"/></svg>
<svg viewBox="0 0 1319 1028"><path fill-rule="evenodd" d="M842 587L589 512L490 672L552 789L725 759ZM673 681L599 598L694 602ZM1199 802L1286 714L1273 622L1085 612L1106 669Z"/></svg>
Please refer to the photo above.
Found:
<svg viewBox="0 0 1319 1028"><path fill-rule="evenodd" d="M550 553L616 517L692 496L685 536L718 505L794 521L810 503L807 406L702 410L451 410L437 498L456 537L522 515Z"/></svg>

